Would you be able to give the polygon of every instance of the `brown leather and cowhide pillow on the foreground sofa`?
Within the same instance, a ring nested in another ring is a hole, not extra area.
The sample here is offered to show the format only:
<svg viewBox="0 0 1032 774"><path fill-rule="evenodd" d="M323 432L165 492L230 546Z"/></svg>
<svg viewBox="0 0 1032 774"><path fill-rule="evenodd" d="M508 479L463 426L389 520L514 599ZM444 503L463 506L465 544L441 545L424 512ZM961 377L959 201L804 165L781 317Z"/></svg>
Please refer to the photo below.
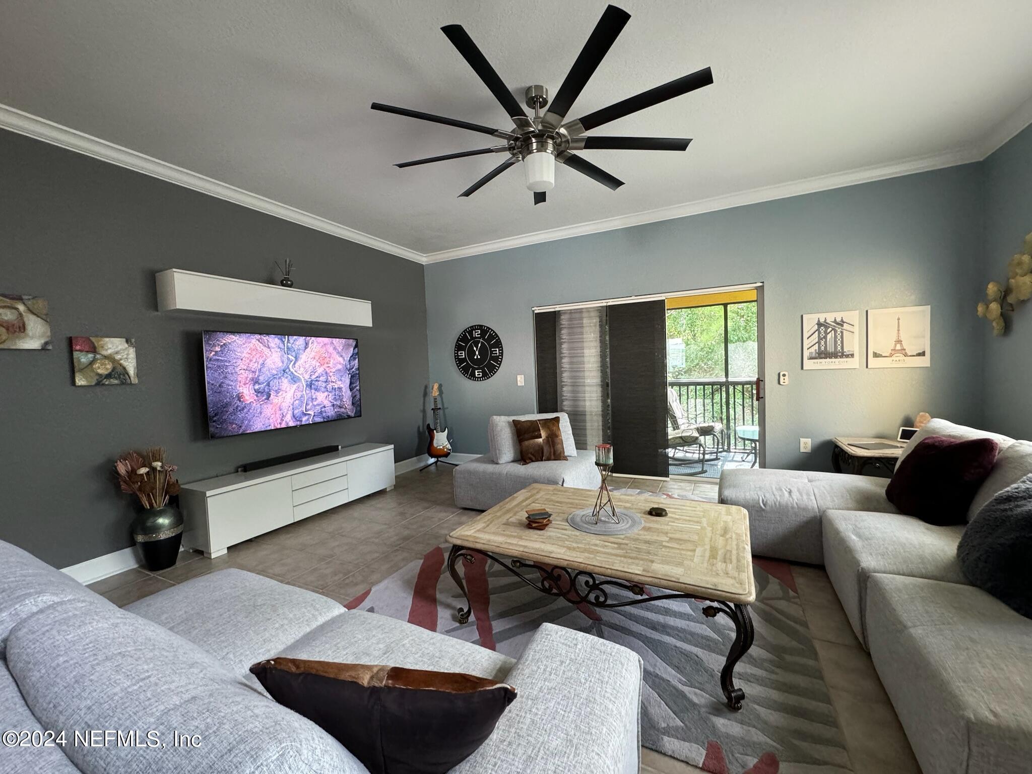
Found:
<svg viewBox="0 0 1032 774"><path fill-rule="evenodd" d="M484 743L516 698L483 677L367 664L271 658L251 674L370 774L444 774Z"/></svg>

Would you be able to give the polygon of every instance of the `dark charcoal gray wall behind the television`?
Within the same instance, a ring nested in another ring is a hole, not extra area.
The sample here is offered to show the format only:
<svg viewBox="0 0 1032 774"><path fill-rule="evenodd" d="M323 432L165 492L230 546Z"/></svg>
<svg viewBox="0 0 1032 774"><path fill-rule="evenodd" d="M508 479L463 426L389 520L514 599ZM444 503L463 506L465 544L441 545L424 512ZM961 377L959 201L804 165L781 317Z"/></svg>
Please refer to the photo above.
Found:
<svg viewBox="0 0 1032 774"><path fill-rule="evenodd" d="M0 292L46 296L54 350L0 350L0 538L56 567L131 545L115 457L163 445L185 481L328 444L425 445L423 267L369 248L0 131ZM159 314L154 273L178 267L367 298L374 326ZM362 417L209 441L200 331L353 336ZM73 387L71 335L136 340L139 384Z"/></svg>

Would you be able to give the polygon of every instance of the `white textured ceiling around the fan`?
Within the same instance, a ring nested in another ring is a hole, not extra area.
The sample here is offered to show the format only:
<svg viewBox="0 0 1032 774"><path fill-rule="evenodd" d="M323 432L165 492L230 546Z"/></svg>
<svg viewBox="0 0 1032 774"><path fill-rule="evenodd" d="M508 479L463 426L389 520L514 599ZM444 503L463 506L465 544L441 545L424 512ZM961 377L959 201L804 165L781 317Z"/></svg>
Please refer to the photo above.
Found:
<svg viewBox="0 0 1032 774"><path fill-rule="evenodd" d="M522 101L558 88L604 2L3 0L0 102L419 253L434 253L979 140L1032 95L1028 0L624 0L631 22L576 118L704 66L715 84L595 133L686 153L592 151L533 206L484 148L373 101L510 128L440 27L462 24ZM486 140L486 141L485 141Z"/></svg>

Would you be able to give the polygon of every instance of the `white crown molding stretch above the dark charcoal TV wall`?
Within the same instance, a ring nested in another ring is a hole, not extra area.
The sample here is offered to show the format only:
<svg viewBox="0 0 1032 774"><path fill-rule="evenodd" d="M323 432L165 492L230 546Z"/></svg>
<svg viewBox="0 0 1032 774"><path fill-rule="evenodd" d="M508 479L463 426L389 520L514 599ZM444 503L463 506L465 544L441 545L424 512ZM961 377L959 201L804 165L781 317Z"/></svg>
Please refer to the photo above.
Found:
<svg viewBox="0 0 1032 774"><path fill-rule="evenodd" d="M312 215L311 213L305 213L303 209L292 207L289 204L283 204L264 196L253 194L250 191L245 191L241 188L220 183L203 174L191 172L189 169L184 169L183 167L152 158L151 156L123 148L122 146L117 146L114 142L85 134L75 129L69 129L66 126L55 124L53 121L23 112L4 104L0 104L0 127L18 132L19 134L34 137L35 139L40 139L43 142L60 146L69 151L92 156L95 159L107 161L127 169L142 172L152 178L174 183L178 186L190 188L209 196L232 201L235 204L241 204L251 209L257 209L258 212L266 213L301 226L308 226L317 231L324 231L349 241L365 245L374 250L408 258L410 261L423 262L422 253L417 253L415 250L402 248L399 245L394 245L386 239L356 231L353 228L348 228L340 223L321 218L318 215Z"/></svg>

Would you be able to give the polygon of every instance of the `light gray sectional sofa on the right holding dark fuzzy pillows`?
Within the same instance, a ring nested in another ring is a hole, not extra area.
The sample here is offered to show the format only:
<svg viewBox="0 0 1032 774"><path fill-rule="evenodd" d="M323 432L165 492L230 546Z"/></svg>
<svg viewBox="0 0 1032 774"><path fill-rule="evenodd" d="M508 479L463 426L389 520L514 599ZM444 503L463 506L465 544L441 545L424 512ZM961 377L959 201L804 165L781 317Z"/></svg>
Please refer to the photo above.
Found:
<svg viewBox="0 0 1032 774"><path fill-rule="evenodd" d="M929 436L1000 445L968 521L1032 474L1032 443L941 419L903 455ZM826 567L925 774L1032 771L1032 620L967 583L957 561L963 525L901 515L888 483L733 470L719 498L749 512L753 553Z"/></svg>

